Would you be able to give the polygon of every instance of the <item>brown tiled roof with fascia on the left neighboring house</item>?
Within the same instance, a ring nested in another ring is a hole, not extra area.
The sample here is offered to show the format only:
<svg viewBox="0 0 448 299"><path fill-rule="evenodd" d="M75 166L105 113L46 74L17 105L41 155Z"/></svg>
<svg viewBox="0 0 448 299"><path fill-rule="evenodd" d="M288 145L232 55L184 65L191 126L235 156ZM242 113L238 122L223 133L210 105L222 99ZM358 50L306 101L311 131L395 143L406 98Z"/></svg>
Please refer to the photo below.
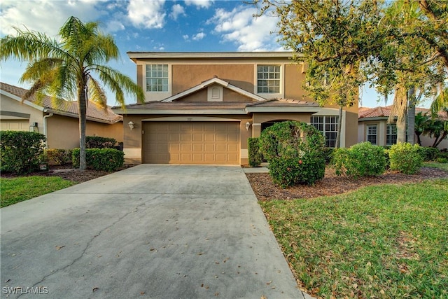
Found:
<svg viewBox="0 0 448 299"><path fill-rule="evenodd" d="M0 82L1 95L6 95L7 97L15 99L18 102L22 102L22 97L27 91L28 90L25 90L24 88L19 88L14 85ZM51 97L46 96L40 102L38 102L36 97L32 96L29 99L23 101L23 103L43 112L78 118L78 102L76 101L63 100L64 104L55 107L52 104ZM86 117L87 120L92 120L99 123L118 123L119 121L123 120L123 116L119 116L118 114L114 113L111 110L110 106L107 106L106 109L103 109L102 107L99 107L96 103L91 101L89 101L89 105L87 106Z"/></svg>

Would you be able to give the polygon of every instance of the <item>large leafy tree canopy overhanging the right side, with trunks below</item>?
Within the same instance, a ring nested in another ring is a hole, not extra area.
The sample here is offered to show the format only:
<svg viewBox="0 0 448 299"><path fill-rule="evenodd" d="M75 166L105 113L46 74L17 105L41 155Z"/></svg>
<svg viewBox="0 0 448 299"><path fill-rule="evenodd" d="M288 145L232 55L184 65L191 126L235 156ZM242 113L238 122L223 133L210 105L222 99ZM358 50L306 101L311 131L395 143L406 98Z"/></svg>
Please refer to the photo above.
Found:
<svg viewBox="0 0 448 299"><path fill-rule="evenodd" d="M390 120L398 118L398 140L404 141L409 103L414 106L423 97L443 95L447 1L255 0L253 4L261 4L259 15L279 18L280 40L293 50L295 61L307 64L304 89L321 105L356 104L358 87L370 82L385 97L394 95Z"/></svg>

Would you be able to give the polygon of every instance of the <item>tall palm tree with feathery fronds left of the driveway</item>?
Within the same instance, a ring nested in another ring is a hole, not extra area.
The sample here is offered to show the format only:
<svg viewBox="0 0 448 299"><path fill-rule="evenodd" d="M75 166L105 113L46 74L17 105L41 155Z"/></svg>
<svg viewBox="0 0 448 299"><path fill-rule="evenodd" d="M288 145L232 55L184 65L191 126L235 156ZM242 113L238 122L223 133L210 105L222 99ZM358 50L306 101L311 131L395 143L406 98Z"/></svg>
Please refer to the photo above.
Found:
<svg viewBox="0 0 448 299"><path fill-rule="evenodd" d="M56 105L60 99L78 100L79 169L84 170L87 104L90 100L106 107L100 82L115 93L122 106L125 92L137 95L139 102L144 101L144 92L131 78L106 65L110 60L118 60L120 53L113 37L102 34L97 22L84 24L70 17L59 29L59 40L39 32L15 30L16 36L0 39L0 60L12 57L29 62L20 81L31 83L31 88L22 101L32 95L38 99L50 95Z"/></svg>

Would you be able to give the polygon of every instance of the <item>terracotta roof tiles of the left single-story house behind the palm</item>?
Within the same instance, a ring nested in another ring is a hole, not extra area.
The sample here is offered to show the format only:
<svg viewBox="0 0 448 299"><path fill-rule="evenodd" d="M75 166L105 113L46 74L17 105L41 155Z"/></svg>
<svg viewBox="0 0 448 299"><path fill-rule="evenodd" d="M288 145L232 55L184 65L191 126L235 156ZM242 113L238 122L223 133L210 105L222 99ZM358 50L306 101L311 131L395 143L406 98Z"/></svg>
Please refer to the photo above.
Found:
<svg viewBox="0 0 448 299"><path fill-rule="evenodd" d="M9 85L3 82L0 83L0 87L1 90L9 92L10 94L20 98L22 98L23 95L25 95L25 92L27 92L27 90L25 90L24 88L19 88L17 86ZM44 97L41 102L38 102L36 97L33 96L29 98L28 101L38 106L42 106L52 113L69 113L73 116L78 116L78 104L76 101L63 100L63 104L61 104L60 106L54 106L50 97ZM117 123L118 121L123 120L123 116L119 116L118 114L114 113L111 110L110 106L107 106L106 109L102 109L96 103L90 101L89 105L87 106L87 118L103 123Z"/></svg>

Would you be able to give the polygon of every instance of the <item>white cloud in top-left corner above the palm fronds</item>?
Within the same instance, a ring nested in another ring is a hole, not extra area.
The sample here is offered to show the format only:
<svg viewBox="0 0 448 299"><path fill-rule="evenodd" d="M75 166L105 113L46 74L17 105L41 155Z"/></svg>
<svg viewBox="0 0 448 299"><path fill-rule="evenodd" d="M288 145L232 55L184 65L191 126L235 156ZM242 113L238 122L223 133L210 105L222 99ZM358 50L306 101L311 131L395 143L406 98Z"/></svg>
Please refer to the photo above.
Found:
<svg viewBox="0 0 448 299"><path fill-rule="evenodd" d="M71 15L80 15L83 22L95 21L106 12L96 8L99 0L50 1L50 0L2 0L1 34L15 34L12 27L45 32L56 36L59 28Z"/></svg>

